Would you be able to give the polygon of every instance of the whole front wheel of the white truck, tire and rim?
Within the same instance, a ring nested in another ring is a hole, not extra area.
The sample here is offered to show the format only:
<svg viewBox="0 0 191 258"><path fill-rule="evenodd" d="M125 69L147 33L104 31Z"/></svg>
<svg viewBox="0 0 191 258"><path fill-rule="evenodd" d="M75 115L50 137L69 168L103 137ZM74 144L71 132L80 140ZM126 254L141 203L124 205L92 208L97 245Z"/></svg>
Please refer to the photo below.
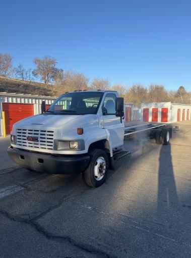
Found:
<svg viewBox="0 0 191 258"><path fill-rule="evenodd" d="M82 173L83 180L90 187L99 187L107 178L108 156L105 150L94 149L90 152L91 161Z"/></svg>

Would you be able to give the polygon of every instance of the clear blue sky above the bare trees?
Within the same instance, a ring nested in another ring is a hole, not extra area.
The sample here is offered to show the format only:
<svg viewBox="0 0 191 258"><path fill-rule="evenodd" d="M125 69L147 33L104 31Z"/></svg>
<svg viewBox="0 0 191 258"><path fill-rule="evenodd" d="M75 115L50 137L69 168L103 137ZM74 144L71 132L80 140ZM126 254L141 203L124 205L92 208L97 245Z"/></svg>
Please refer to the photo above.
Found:
<svg viewBox="0 0 191 258"><path fill-rule="evenodd" d="M49 55L90 79L191 91L190 1L6 0L0 8L0 51L15 66Z"/></svg>

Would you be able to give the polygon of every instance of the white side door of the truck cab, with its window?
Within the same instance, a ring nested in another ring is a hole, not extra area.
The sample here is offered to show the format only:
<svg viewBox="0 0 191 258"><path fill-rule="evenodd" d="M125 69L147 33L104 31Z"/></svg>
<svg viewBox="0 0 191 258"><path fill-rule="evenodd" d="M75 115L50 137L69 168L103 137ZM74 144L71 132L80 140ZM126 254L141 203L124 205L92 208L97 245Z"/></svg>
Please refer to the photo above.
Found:
<svg viewBox="0 0 191 258"><path fill-rule="evenodd" d="M115 116L115 100L114 93L107 93L102 106L103 124L109 130L112 148L123 145L124 139L124 124L120 122L120 117Z"/></svg>

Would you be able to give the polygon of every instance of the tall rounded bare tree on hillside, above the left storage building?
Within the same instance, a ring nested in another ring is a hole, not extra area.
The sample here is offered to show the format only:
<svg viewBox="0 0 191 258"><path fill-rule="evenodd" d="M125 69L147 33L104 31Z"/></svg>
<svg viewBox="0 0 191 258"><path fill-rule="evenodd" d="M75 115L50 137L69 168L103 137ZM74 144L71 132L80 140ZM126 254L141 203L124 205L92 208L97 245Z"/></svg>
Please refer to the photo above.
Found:
<svg viewBox="0 0 191 258"><path fill-rule="evenodd" d="M40 80L44 83L50 83L57 73L57 68L55 67L57 64L56 59L45 56L42 59L34 58L33 63L36 68L32 71L32 74L35 77L40 77Z"/></svg>

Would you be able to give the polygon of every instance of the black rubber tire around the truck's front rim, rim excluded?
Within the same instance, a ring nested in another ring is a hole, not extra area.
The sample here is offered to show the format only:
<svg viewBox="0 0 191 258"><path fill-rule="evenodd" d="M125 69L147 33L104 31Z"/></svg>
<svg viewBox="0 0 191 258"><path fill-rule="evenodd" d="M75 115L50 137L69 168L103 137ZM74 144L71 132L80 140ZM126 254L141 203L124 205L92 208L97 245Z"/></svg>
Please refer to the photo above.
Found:
<svg viewBox="0 0 191 258"><path fill-rule="evenodd" d="M93 149L90 152L90 164L88 168L82 173L83 180L86 185L90 187L99 187L101 186L106 178L107 178L107 172L108 172L108 167L109 167L109 161L108 161L108 156L107 152L103 149ZM96 180L96 177L94 175L94 168L96 166L96 162L99 158L104 158L105 164L106 164L106 169L103 178L101 178L99 181Z"/></svg>

